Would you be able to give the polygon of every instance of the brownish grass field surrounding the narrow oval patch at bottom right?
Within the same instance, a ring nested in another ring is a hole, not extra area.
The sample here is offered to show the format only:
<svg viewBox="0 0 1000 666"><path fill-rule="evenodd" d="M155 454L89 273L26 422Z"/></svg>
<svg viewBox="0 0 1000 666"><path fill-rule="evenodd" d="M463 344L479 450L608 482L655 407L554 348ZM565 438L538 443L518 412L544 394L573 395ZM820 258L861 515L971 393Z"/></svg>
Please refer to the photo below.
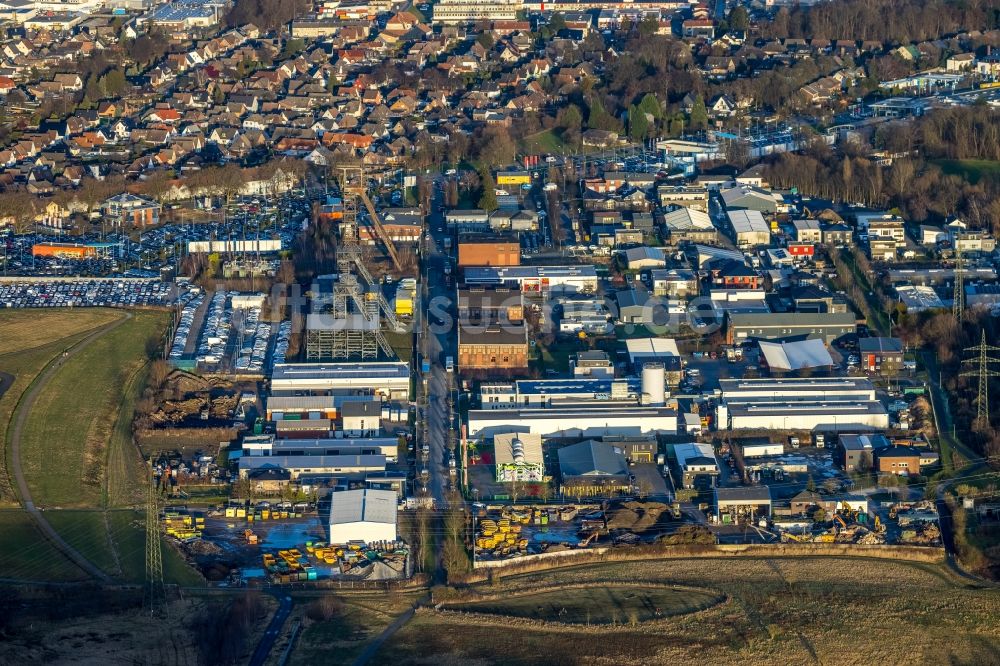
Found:
<svg viewBox="0 0 1000 666"><path fill-rule="evenodd" d="M546 623L525 619L527 600L519 592L547 587L558 599L558 586L577 589L588 581L595 589L639 581L691 586L726 600L647 623L626 613L614 626L560 626L553 623L561 609L550 602L530 612ZM835 557L623 562L511 576L477 591L502 599L490 610L506 617L421 609L375 661L1000 663L1000 590L970 587L935 565Z"/></svg>

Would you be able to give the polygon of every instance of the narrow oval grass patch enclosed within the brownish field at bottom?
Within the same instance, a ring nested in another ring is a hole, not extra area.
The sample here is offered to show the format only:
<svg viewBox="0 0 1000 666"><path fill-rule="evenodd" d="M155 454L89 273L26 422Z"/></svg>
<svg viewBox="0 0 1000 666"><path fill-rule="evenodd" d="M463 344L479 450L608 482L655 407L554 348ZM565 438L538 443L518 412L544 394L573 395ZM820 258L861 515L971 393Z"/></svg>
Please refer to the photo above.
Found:
<svg viewBox="0 0 1000 666"><path fill-rule="evenodd" d="M565 624L627 624L692 613L723 600L711 591L594 585L446 604L445 608Z"/></svg>

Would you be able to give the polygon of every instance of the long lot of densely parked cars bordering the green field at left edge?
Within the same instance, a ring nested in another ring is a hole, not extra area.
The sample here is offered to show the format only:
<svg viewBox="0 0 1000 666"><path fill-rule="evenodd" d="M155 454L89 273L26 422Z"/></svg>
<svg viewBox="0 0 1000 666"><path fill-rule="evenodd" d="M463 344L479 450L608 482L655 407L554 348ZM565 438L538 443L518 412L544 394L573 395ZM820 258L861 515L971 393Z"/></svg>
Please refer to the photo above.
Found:
<svg viewBox="0 0 1000 666"><path fill-rule="evenodd" d="M142 307L169 305L175 293L159 280L25 280L0 284L0 307Z"/></svg>

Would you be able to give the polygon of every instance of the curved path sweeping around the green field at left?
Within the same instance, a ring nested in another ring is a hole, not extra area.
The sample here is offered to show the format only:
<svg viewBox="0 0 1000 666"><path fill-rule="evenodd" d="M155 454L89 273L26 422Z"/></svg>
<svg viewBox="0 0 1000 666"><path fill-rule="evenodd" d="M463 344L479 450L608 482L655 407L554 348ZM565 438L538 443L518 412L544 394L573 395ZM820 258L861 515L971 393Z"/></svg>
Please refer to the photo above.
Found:
<svg viewBox="0 0 1000 666"><path fill-rule="evenodd" d="M16 416L10 431L11 471L14 474L14 480L17 483L17 489L20 493L21 504L24 505L24 510L29 516L31 516L32 520L35 521L35 524L38 525L42 534L44 534L45 537L51 541L63 555L65 555L71 562L76 564L83 571L104 583L111 582L111 578L90 560L81 555L79 551L66 543L66 541L59 536L59 533L53 529L52 525L49 524L49 521L45 519L45 516L42 515L42 512L38 509L38 507L35 506L31 497L31 491L28 488L28 482L24 477L24 469L21 466L21 434L24 430L25 423L28 421L28 416L31 414L31 408L34 406L35 400L41 394L42 390L49 383L52 377L55 376L56 372L58 372L63 366L63 364L73 358L76 354L80 353L80 351L85 349L90 343L118 328L131 318L132 315L126 312L124 317L117 321L113 321L106 326L102 326L96 331L90 333L87 337L83 338L64 351L62 356L50 363L45 370L42 371L42 374L40 374L35 381L32 382L27 392L21 398L21 404L17 407ZM53 461L53 464L58 464L58 462Z"/></svg>

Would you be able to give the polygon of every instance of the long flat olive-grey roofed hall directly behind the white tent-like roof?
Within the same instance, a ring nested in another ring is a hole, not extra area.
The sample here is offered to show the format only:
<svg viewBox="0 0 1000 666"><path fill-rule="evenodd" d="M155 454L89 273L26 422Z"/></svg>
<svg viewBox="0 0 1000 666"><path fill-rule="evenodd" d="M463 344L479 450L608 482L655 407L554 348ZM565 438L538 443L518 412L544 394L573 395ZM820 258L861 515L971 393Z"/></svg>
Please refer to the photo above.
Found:
<svg viewBox="0 0 1000 666"><path fill-rule="evenodd" d="M794 337L819 338L830 344L857 331L851 312L729 312L727 318L726 342L731 345Z"/></svg>

